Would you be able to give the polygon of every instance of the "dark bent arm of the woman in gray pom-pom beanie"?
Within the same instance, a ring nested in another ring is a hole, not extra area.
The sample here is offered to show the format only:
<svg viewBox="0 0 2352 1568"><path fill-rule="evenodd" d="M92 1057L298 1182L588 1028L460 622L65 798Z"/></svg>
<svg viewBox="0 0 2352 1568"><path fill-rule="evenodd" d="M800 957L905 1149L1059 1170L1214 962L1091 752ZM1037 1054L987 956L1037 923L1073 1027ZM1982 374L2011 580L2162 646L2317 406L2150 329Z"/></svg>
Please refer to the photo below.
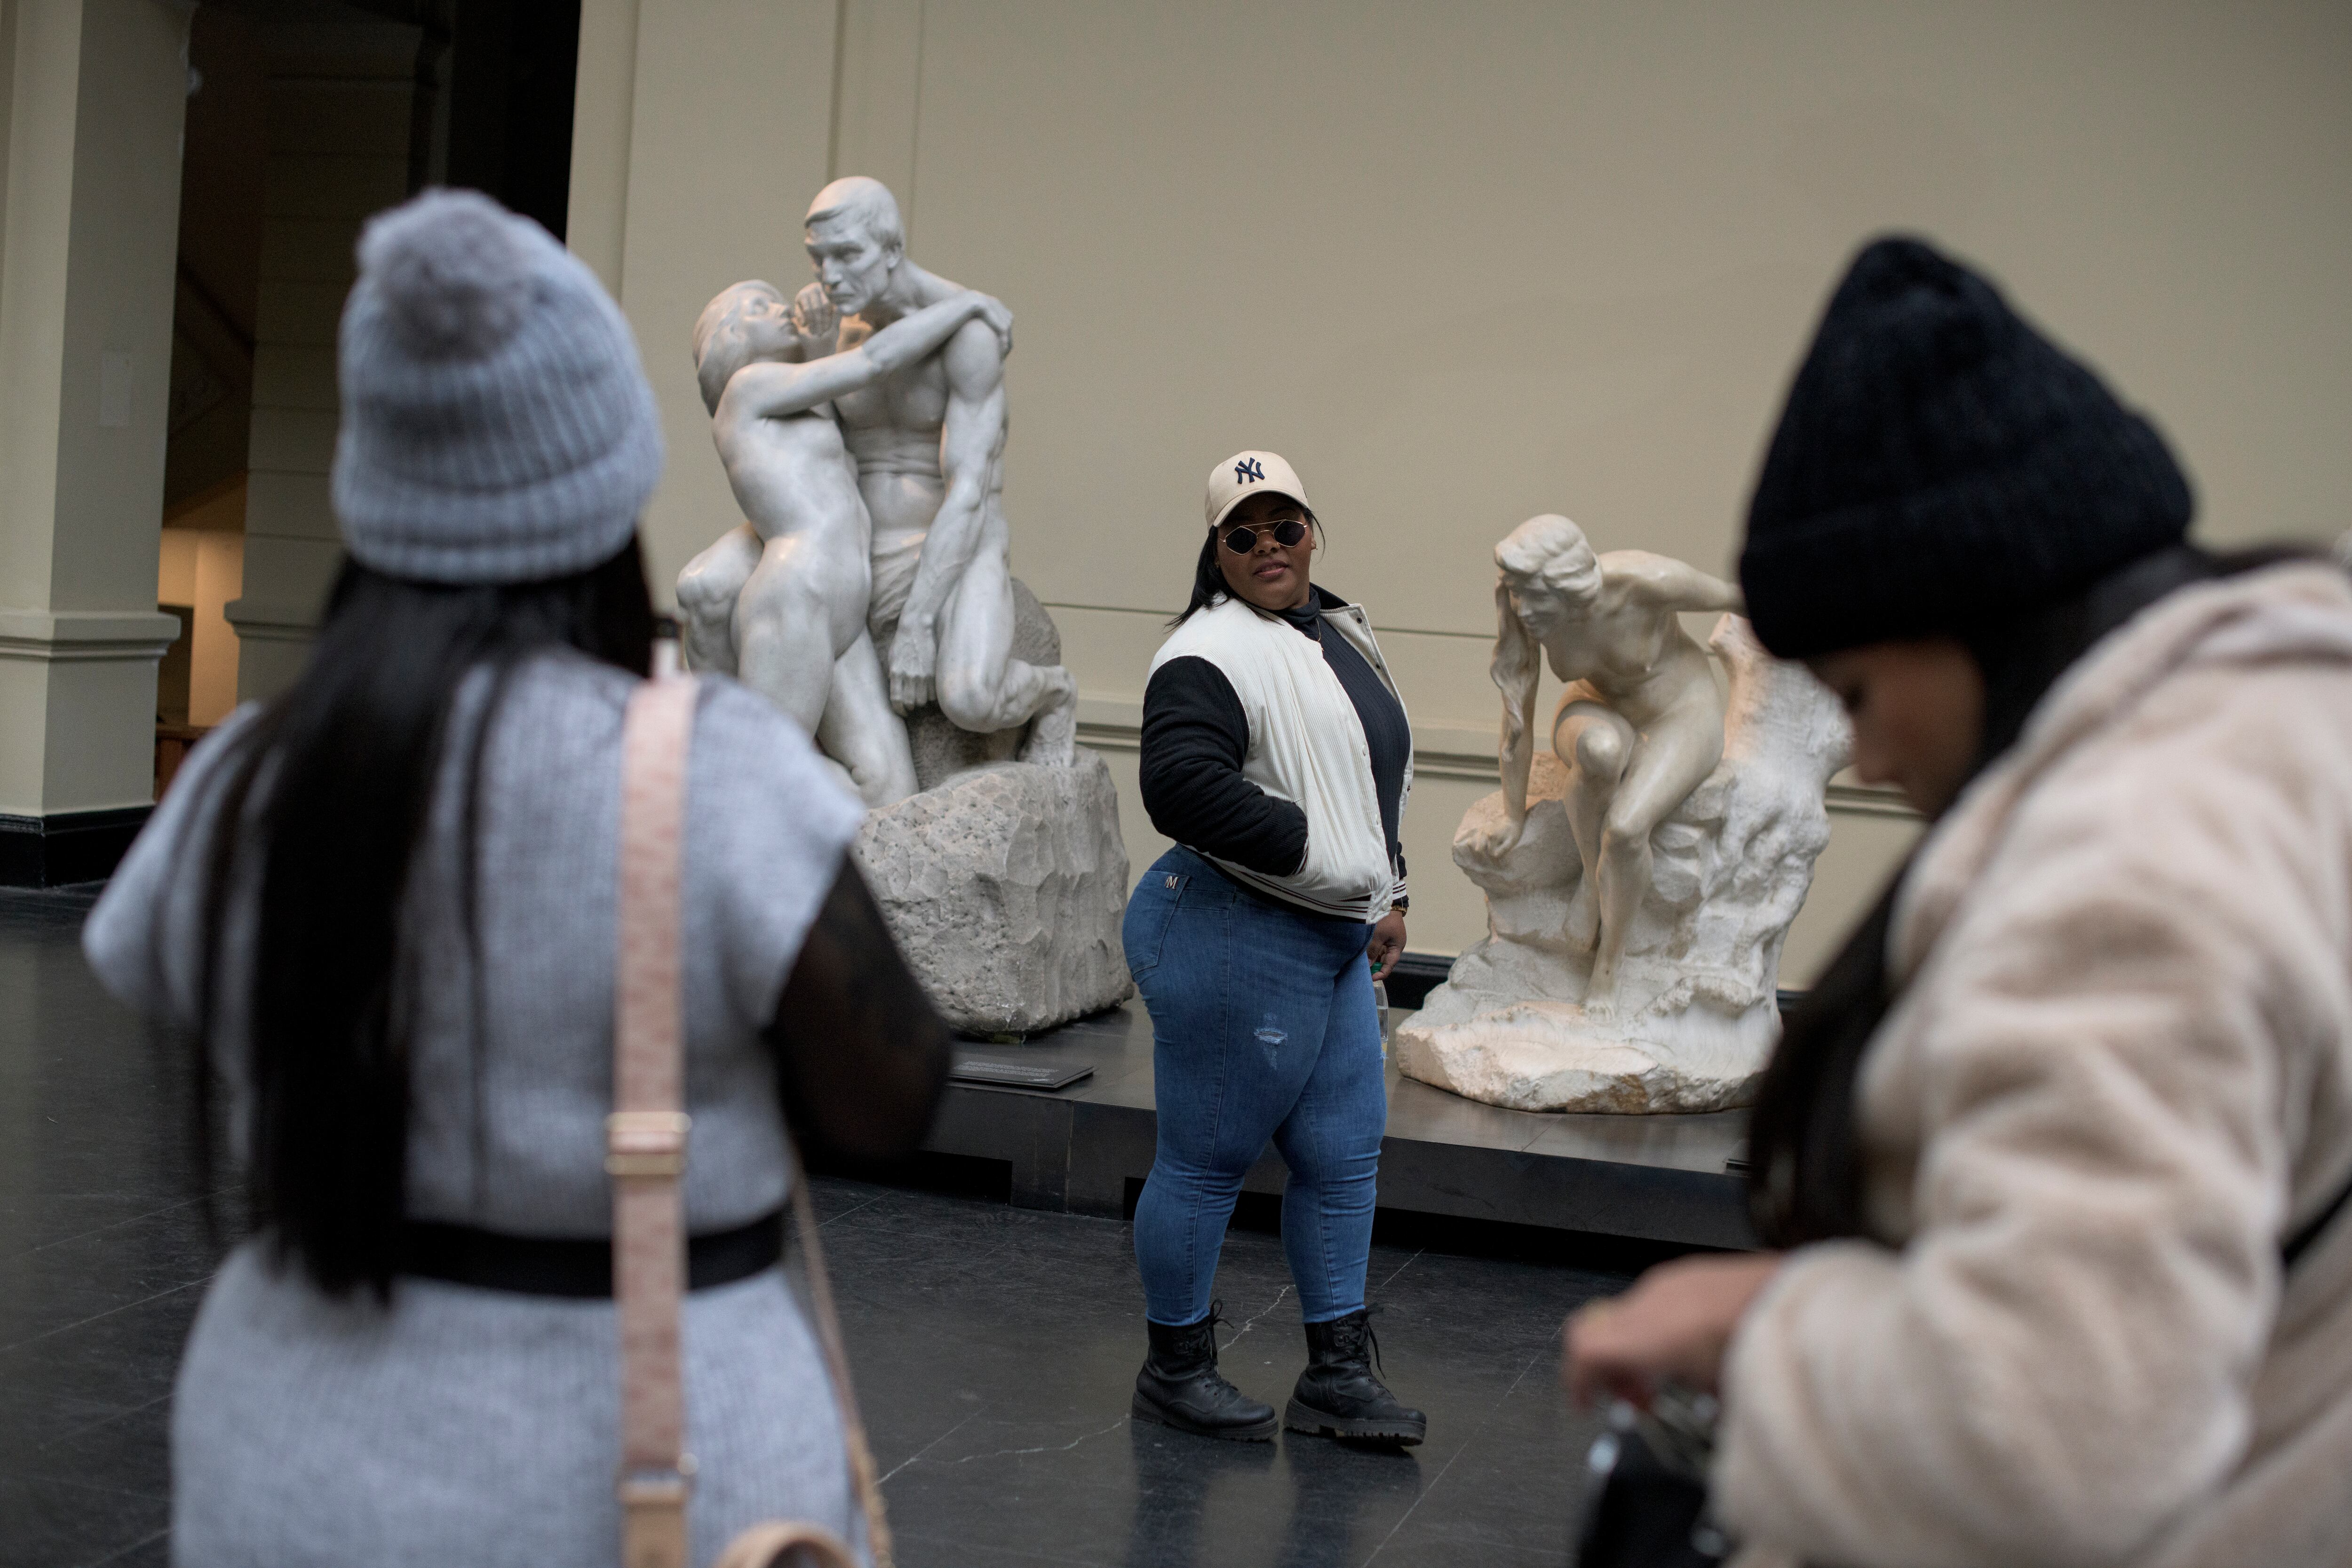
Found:
<svg viewBox="0 0 2352 1568"><path fill-rule="evenodd" d="M948 1025L849 856L793 961L767 1037L797 1138L851 1159L891 1159L922 1143L948 1086Z"/></svg>

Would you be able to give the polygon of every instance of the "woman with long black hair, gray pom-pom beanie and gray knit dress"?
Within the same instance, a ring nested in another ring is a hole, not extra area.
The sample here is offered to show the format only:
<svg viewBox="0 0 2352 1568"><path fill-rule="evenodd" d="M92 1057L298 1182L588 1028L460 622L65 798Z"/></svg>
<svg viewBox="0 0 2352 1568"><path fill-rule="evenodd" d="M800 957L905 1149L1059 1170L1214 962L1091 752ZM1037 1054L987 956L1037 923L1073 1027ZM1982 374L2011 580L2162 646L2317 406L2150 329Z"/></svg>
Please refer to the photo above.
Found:
<svg viewBox="0 0 2352 1568"><path fill-rule="evenodd" d="M350 559L310 663L195 750L85 931L122 1001L198 1041L252 1194L179 1373L172 1552L612 1563L602 1157L654 400L595 277L470 193L367 226L339 355ZM776 1267L788 1143L913 1147L948 1037L844 858L858 818L807 736L703 682L682 846L696 1561L774 1516L863 1535Z"/></svg>

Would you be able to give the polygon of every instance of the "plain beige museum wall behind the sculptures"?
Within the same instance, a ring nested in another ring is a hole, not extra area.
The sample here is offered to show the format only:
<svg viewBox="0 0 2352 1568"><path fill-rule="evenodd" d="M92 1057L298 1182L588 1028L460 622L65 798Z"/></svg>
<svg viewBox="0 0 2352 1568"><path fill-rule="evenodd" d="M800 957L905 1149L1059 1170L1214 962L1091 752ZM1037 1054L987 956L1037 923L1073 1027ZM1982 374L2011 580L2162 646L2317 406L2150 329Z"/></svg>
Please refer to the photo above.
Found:
<svg viewBox="0 0 2352 1568"><path fill-rule="evenodd" d="M687 364L722 284L804 277L828 174L1018 313L1007 505L1134 795L1143 668L1209 463L1291 456L1423 757L1414 947L1479 907L1491 543L1564 510L1726 567L1853 244L1976 256L2176 440L2213 541L2345 527L2352 9L588 0L574 247L663 397L666 583L734 522ZM1804 978L1915 827L1842 795Z"/></svg>

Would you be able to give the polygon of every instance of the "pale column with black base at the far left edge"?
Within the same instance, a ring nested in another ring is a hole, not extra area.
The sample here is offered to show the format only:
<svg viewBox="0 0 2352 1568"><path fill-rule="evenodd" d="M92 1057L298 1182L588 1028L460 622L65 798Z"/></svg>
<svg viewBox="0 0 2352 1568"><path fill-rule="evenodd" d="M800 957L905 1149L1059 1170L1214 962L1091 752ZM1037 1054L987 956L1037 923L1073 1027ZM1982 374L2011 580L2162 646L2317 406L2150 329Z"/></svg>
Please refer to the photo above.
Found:
<svg viewBox="0 0 2352 1568"><path fill-rule="evenodd" d="M0 0L0 884L153 802L188 7Z"/></svg>

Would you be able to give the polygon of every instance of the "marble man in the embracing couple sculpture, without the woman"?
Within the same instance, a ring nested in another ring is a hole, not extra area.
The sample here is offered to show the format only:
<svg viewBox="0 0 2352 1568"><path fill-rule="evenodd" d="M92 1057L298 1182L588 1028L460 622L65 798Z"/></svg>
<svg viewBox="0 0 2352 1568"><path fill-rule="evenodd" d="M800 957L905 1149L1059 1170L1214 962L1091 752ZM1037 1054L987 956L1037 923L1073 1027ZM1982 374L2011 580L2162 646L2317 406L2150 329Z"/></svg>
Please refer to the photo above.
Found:
<svg viewBox="0 0 2352 1568"><path fill-rule="evenodd" d="M797 306L837 313L854 348L962 289L906 256L898 202L873 179L837 179L807 216L816 284ZM1077 682L1011 656L1011 541L1004 527L1004 346L971 322L946 348L835 397L873 515L868 625L898 712L936 701L976 733L1035 719L1023 759L1068 764Z"/></svg>

